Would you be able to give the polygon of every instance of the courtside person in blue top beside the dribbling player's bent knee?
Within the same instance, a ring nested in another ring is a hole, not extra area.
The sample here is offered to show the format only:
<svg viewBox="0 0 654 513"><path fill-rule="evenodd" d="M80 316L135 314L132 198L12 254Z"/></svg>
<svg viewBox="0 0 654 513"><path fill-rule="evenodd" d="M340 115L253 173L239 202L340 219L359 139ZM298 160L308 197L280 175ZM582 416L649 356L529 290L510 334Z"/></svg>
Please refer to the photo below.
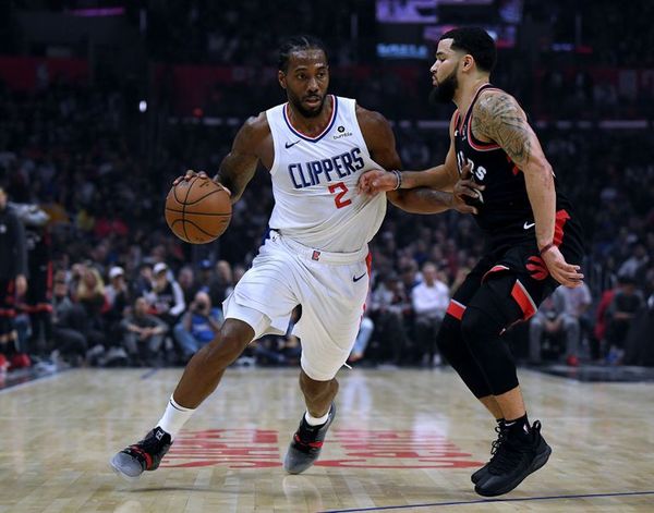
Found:
<svg viewBox="0 0 654 513"><path fill-rule="evenodd" d="M211 306L206 292L195 294L193 303L174 327L173 334L182 349L183 358L187 361L203 345L209 343L222 325L220 308Z"/></svg>

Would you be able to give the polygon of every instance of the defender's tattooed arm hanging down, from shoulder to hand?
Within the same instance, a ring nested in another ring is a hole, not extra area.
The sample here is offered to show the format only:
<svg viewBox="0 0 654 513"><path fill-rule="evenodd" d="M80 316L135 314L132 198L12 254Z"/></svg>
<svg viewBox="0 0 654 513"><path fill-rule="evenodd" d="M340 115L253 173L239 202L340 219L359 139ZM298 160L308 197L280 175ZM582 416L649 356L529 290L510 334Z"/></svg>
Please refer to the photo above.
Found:
<svg viewBox="0 0 654 513"><path fill-rule="evenodd" d="M556 191L552 166L526 115L506 93L488 91L474 105L472 132L482 141L494 141L524 173L526 194L536 223L536 243L552 276L564 285L577 286L583 278L578 266L566 262L554 243Z"/></svg>

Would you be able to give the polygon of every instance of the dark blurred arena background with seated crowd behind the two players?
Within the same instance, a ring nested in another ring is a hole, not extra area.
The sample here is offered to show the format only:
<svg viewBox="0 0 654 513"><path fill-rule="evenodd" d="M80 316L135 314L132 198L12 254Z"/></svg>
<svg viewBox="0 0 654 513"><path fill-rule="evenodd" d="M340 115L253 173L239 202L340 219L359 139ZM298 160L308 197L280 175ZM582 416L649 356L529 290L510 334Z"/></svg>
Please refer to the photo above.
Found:
<svg viewBox="0 0 654 513"><path fill-rule="evenodd" d="M283 101L279 42L323 37L331 90L384 113L404 167L425 169L446 155L453 110L426 100L433 38L456 24L495 30L494 83L530 114L586 234L584 288L559 289L512 330L517 357L654 365L654 4L117 3L0 8L0 186L28 268L17 346L0 344L0 367L185 363L220 326L272 196L261 170L206 246L172 235L164 199L186 169L217 170L245 117ZM483 248L471 217L389 207L351 362L441 364L435 332ZM238 363L294 365L300 343L290 331L267 338Z"/></svg>

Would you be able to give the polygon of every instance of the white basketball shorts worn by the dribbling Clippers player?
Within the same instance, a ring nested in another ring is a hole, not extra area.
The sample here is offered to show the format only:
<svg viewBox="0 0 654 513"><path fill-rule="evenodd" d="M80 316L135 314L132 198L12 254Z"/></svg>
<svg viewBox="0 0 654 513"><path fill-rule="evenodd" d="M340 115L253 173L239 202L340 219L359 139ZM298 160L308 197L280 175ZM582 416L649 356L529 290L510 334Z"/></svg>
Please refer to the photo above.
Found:
<svg viewBox="0 0 654 513"><path fill-rule="evenodd" d="M286 333L293 308L302 305L293 329L302 342L302 369L328 381L348 359L359 332L370 285L366 256L367 248L319 252L271 231L225 300L225 318L249 323L258 339Z"/></svg>

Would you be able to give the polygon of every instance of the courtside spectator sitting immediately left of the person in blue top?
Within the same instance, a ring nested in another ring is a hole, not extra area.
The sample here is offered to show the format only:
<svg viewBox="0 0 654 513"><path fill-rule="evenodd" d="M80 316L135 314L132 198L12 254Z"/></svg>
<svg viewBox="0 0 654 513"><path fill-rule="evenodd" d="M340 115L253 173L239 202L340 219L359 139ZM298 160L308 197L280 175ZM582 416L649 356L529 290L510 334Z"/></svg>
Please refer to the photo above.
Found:
<svg viewBox="0 0 654 513"><path fill-rule="evenodd" d="M123 344L138 366L155 365L168 331L166 322L149 315L148 308L147 300L137 297L133 312L122 321Z"/></svg>

